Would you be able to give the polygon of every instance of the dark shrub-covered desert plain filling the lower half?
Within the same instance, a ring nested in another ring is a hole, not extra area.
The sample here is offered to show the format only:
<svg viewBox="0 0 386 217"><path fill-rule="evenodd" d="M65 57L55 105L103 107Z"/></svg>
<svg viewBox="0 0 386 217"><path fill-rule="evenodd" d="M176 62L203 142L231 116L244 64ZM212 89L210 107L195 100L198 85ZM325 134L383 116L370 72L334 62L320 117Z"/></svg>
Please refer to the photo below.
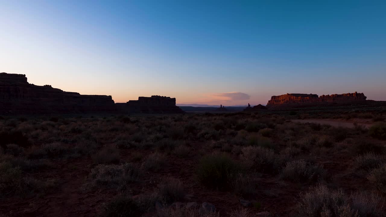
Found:
<svg viewBox="0 0 386 217"><path fill-rule="evenodd" d="M385 117L4 116L0 216L384 216ZM352 127L291 121L308 118Z"/></svg>

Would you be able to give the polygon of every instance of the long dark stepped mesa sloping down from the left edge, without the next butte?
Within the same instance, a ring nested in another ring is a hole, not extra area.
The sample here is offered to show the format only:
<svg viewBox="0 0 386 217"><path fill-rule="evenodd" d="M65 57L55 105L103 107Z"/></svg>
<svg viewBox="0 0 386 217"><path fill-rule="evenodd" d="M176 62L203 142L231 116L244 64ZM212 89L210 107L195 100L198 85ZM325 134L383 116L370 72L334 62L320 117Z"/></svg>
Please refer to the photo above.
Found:
<svg viewBox="0 0 386 217"><path fill-rule="evenodd" d="M111 96L80 95L51 85L37 86L25 75L0 73L0 114L50 114L115 111Z"/></svg>

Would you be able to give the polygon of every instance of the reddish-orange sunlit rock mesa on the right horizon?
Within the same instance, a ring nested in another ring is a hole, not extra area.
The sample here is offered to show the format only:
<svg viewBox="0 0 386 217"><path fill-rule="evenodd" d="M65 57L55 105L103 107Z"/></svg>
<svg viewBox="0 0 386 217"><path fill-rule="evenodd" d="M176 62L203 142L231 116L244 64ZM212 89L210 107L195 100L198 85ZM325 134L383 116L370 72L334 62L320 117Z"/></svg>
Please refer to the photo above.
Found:
<svg viewBox="0 0 386 217"><path fill-rule="evenodd" d="M322 95L303 93L287 93L279 96L272 96L267 103L267 108L295 108L310 107L318 105L347 104L366 102L363 93L343 93Z"/></svg>

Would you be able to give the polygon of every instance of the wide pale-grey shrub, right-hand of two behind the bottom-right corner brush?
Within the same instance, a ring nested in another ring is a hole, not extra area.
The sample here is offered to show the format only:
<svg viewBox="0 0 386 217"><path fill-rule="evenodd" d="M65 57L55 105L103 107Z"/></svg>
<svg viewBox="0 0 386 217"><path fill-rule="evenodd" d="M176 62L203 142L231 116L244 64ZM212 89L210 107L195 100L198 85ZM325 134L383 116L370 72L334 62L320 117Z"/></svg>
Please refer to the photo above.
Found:
<svg viewBox="0 0 386 217"><path fill-rule="evenodd" d="M322 165L294 160L286 164L280 175L281 179L301 183L326 180L327 174Z"/></svg>

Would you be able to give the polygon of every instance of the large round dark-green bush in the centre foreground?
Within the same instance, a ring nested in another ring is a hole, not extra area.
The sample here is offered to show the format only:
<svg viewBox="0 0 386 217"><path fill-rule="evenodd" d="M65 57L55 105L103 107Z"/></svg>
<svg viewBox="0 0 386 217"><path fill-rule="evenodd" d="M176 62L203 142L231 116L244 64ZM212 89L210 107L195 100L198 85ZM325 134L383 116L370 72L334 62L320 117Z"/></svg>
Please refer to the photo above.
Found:
<svg viewBox="0 0 386 217"><path fill-rule="evenodd" d="M239 166L226 154L212 154L201 158L198 168L198 180L206 186L224 188L232 174L239 171Z"/></svg>

